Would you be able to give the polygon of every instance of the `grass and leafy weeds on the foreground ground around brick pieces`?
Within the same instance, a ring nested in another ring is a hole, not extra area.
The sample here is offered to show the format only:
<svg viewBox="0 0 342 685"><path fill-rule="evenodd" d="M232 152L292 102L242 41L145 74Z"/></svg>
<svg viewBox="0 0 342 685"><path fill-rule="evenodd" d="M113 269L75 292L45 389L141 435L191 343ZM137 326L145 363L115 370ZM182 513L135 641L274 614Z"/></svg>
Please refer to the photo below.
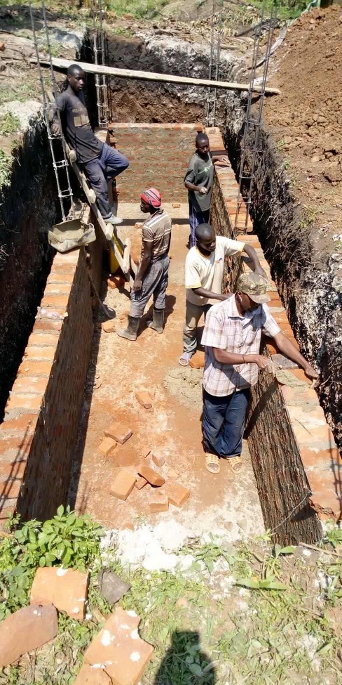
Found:
<svg viewBox="0 0 342 685"><path fill-rule="evenodd" d="M0 671L0 685L71 685L114 609L98 589L102 565L131 583L120 604L142 618L139 632L155 648L142 685L341 683L342 531L334 525L324 554L271 549L268 533L226 548L214 537L192 540L179 552L193 555L191 568L174 573L123 567L115 549L102 559L100 526L63 507L43 524L14 519L10 530L0 543L1 617L27 604L38 566L60 563L90 570L89 613L85 622L60 614L53 643Z"/></svg>

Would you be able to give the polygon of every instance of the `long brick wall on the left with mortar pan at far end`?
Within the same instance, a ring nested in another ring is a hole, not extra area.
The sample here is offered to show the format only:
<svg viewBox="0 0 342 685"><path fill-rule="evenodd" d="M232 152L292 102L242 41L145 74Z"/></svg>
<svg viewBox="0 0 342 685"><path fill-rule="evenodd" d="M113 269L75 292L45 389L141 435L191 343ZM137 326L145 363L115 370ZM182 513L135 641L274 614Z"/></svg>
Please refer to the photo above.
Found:
<svg viewBox="0 0 342 685"><path fill-rule="evenodd" d="M100 237L89 249L88 259L84 249L55 256L6 405L0 523L15 510L24 518L48 518L67 497L93 337L88 268L100 289Z"/></svg>

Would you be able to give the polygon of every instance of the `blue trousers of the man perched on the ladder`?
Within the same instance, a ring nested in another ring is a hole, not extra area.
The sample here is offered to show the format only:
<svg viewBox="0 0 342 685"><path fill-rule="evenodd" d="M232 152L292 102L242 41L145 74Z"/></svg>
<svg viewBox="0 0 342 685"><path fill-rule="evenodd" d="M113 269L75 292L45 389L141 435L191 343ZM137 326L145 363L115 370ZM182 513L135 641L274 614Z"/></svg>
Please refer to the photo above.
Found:
<svg viewBox="0 0 342 685"><path fill-rule="evenodd" d="M108 197L108 183L122 171L128 169L130 162L121 152L110 148L107 143L103 144L100 157L90 159L90 162L83 164L83 169L88 181L95 190L97 204L103 218L111 216L111 206Z"/></svg>

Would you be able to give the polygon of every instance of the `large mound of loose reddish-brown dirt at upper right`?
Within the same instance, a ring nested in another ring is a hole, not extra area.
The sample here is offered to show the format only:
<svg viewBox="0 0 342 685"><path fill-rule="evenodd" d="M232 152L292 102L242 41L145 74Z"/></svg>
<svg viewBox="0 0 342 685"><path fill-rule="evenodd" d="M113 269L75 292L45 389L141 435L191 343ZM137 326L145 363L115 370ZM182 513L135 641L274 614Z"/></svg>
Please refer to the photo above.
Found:
<svg viewBox="0 0 342 685"><path fill-rule="evenodd" d="M289 27L271 58L270 81L281 95L267 99L264 109L308 223L320 223L317 247L324 250L341 233L341 31L339 6L314 9Z"/></svg>

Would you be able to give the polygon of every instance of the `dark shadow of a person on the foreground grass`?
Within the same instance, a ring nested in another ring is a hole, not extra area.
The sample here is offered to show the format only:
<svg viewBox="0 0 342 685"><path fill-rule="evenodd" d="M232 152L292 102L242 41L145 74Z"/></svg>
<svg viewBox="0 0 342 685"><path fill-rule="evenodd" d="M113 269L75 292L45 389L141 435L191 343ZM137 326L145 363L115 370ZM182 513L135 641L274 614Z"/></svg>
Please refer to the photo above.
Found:
<svg viewBox="0 0 342 685"><path fill-rule="evenodd" d="M214 685L217 682L215 666L200 650L198 632L177 630L167 649L153 685Z"/></svg>

